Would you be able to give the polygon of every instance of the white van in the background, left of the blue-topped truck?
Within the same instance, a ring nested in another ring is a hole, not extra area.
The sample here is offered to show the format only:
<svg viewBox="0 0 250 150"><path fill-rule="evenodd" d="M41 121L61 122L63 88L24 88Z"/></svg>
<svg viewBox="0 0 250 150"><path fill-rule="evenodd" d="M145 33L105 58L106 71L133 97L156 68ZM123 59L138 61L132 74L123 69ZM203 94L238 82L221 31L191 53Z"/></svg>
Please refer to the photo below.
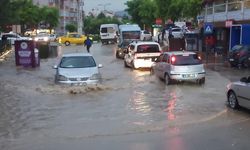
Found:
<svg viewBox="0 0 250 150"><path fill-rule="evenodd" d="M118 25L117 24L102 24L100 26L100 37L102 44L117 43Z"/></svg>

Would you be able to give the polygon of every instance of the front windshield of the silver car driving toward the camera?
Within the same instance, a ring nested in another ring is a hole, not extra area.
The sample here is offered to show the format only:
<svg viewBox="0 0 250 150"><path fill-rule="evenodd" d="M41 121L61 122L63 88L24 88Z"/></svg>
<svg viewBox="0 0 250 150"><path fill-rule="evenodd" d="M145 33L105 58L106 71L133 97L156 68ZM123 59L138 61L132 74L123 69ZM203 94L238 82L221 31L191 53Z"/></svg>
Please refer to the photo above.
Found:
<svg viewBox="0 0 250 150"><path fill-rule="evenodd" d="M91 56L63 57L60 63L61 68L88 68L95 66L95 60Z"/></svg>

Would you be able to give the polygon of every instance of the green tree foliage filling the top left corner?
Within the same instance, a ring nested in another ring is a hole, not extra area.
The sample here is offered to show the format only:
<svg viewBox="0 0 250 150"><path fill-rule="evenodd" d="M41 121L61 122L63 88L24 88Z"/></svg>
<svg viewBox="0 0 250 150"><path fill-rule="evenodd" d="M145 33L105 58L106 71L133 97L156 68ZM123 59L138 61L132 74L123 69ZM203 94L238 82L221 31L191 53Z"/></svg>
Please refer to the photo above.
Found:
<svg viewBox="0 0 250 150"><path fill-rule="evenodd" d="M46 22L50 28L58 25L59 10L50 7L38 7L32 0L1 0L0 26L21 24L35 28L40 22Z"/></svg>

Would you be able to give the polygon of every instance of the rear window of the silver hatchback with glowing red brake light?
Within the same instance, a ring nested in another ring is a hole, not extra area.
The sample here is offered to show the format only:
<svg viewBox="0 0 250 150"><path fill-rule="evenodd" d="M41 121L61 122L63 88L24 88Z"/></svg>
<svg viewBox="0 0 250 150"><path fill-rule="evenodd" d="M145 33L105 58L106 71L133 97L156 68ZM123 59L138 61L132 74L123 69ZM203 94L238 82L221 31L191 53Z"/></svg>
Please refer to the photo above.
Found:
<svg viewBox="0 0 250 150"><path fill-rule="evenodd" d="M172 60L173 65L198 65L201 64L197 54L184 54L184 55L174 55L174 61Z"/></svg>

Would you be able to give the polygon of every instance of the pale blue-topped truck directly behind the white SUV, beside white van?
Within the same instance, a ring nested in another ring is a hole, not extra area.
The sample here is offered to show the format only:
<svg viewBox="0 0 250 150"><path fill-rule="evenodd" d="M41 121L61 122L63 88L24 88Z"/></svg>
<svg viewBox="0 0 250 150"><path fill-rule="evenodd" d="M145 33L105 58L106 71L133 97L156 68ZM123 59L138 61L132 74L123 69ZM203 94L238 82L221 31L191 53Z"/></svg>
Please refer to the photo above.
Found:
<svg viewBox="0 0 250 150"><path fill-rule="evenodd" d="M125 50L133 41L139 41L141 37L141 28L138 24L119 25L119 42L116 49L116 58L124 58Z"/></svg>

